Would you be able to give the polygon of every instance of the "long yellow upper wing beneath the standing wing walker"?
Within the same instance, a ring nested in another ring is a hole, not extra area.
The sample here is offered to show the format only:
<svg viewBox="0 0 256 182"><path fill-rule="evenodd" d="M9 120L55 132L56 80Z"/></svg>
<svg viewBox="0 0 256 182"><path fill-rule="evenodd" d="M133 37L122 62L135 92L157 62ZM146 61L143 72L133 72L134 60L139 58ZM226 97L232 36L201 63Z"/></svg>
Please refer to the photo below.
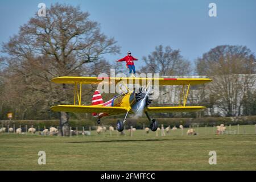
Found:
<svg viewBox="0 0 256 182"><path fill-rule="evenodd" d="M53 78L57 84L117 84L120 81L125 84L146 85L148 81L159 85L197 85L212 81L209 78L141 78L141 77L72 77L63 76Z"/></svg>

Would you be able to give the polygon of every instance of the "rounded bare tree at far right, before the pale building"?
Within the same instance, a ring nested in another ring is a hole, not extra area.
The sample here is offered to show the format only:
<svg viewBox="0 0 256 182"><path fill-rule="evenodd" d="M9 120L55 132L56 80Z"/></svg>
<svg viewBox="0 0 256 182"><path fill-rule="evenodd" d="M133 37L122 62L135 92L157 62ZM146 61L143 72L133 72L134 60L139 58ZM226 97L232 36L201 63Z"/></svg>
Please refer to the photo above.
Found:
<svg viewBox="0 0 256 182"><path fill-rule="evenodd" d="M226 116L241 115L248 99L245 96L255 89L255 68L251 66L254 60L245 46L217 46L197 59L197 73L213 78L207 86L208 96Z"/></svg>

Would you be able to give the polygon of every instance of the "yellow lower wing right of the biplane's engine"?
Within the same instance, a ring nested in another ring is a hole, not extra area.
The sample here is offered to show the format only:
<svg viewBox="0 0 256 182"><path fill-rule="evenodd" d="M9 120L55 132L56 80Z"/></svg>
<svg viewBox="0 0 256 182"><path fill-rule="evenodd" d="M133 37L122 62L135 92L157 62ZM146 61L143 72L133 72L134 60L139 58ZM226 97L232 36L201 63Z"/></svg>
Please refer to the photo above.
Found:
<svg viewBox="0 0 256 182"><path fill-rule="evenodd" d="M151 113L175 113L175 112L193 112L204 110L204 106L161 106L147 107L147 111Z"/></svg>

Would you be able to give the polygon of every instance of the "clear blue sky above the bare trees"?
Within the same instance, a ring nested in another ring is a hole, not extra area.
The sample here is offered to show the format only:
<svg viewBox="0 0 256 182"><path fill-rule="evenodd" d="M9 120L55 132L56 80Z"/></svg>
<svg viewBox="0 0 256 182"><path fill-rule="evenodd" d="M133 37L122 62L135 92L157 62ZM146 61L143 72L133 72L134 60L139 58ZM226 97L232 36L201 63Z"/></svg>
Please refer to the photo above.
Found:
<svg viewBox="0 0 256 182"><path fill-rule="evenodd" d="M0 1L0 42L7 42L38 11L43 2L80 5L101 30L121 46L121 55L107 55L110 61L131 51L143 65L142 56L155 46L180 49L193 62L210 48L222 44L247 46L256 52L256 1L254 0L84 0ZM217 5L217 17L209 17L209 3Z"/></svg>

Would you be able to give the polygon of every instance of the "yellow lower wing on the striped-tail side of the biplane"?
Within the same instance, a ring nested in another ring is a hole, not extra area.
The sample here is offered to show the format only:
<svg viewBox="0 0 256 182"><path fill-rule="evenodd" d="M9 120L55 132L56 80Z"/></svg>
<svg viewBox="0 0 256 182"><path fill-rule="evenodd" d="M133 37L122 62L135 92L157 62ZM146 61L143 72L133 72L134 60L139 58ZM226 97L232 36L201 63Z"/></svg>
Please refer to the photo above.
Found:
<svg viewBox="0 0 256 182"><path fill-rule="evenodd" d="M126 113L129 108L126 107L106 107L106 106L79 106L79 105L58 105L52 106L53 111L65 111L73 113L108 113L122 114Z"/></svg>

